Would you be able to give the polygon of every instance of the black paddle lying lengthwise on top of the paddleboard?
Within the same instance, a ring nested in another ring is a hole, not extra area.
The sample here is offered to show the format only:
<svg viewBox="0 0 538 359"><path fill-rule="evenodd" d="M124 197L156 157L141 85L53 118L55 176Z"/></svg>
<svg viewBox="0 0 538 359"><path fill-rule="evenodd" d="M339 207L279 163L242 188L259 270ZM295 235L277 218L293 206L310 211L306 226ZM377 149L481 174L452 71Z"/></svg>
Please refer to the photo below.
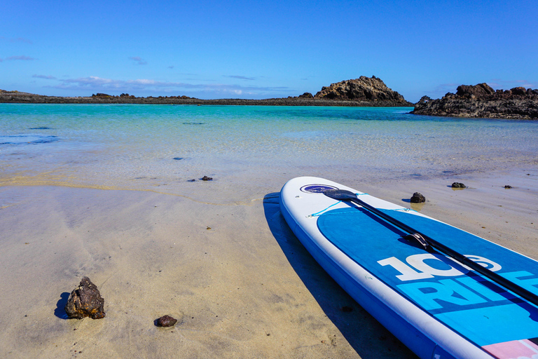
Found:
<svg viewBox="0 0 538 359"><path fill-rule="evenodd" d="M459 252L456 252L452 248L449 248L446 245L443 245L443 243L439 243L438 241L435 241L433 238L426 236L424 233L420 233L420 231L417 231L416 229L411 228L411 226L408 226L407 224L400 222L398 219L390 217L385 212L382 212L381 210L378 210L377 208L371 205L368 205L368 203L361 201L359 198L357 198L357 195L354 194L352 191L347 191L345 189L329 189L327 191L324 191L323 193L325 196L336 199L338 201L350 201L350 202L356 203L357 205L360 205L365 210L368 210L369 212L372 212L374 215L377 215L378 217L385 219L385 221L391 224L394 224L394 226L398 227L399 229L402 229L403 231L408 232L409 235L404 237L407 240L418 241L418 243L420 243L422 247L424 247L425 250L429 252L432 251L429 247L435 248L436 250L443 253L444 255L448 255L448 257L452 257L457 262L460 262L460 264L464 264L465 266L468 266L472 270L477 271L478 273L481 273L486 278L489 278L493 282L499 285L502 285L502 287L505 287L506 289L511 290L511 292L518 294L520 297L527 299L527 301L538 306L538 296L536 294L533 294L530 291L526 290L525 288L520 287L516 283L513 283L510 280L502 276L499 276L499 274L495 273L494 271L490 271L489 269L481 266L480 264L471 261L471 259L465 257Z"/></svg>

